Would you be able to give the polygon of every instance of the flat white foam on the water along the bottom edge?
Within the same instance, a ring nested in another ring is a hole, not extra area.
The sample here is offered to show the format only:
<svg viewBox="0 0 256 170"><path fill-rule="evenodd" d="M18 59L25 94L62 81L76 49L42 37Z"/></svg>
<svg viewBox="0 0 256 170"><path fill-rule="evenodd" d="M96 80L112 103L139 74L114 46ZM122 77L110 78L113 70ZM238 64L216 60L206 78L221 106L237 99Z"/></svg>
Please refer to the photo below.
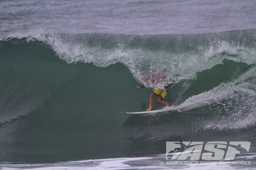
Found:
<svg viewBox="0 0 256 170"><path fill-rule="evenodd" d="M33 170L128 170L128 169L187 169L187 170L226 170L226 169L254 169L253 166L241 167L230 165L167 165L165 156L155 157L124 157L124 158L108 158L108 159L90 159L81 161L67 161L53 164L0 164L2 169L33 169Z"/></svg>

